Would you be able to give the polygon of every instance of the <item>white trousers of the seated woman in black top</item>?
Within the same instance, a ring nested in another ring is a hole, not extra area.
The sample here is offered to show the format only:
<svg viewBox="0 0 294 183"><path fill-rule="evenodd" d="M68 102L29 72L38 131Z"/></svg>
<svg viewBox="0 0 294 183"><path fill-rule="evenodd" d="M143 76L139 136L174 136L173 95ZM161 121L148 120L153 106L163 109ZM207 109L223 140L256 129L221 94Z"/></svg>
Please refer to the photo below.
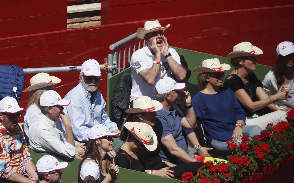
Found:
<svg viewBox="0 0 294 183"><path fill-rule="evenodd" d="M286 121L286 114L285 111L274 111L263 116L254 114L253 116L246 117L246 125L258 125L261 130L265 130L268 123L276 125L280 121Z"/></svg>

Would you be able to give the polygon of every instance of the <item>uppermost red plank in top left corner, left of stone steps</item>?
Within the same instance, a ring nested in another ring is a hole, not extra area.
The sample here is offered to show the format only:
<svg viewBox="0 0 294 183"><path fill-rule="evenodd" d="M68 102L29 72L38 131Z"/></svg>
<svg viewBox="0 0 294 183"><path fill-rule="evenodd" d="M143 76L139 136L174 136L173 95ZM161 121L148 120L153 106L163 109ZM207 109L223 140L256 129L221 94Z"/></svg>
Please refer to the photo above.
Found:
<svg viewBox="0 0 294 183"><path fill-rule="evenodd" d="M61 13L66 9L67 0L1 1L0 20Z"/></svg>

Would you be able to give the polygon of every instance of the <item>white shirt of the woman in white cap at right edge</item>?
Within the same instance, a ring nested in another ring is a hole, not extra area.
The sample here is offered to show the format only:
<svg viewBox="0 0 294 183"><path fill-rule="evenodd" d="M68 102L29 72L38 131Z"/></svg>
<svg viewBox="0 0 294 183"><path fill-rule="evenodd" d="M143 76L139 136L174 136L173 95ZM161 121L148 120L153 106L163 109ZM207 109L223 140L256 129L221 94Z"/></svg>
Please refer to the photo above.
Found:
<svg viewBox="0 0 294 183"><path fill-rule="evenodd" d="M270 70L266 75L265 78L263 79L263 89L265 93L268 95L274 95L278 92L280 89L280 85L277 83L277 79L275 78L274 73ZM285 89L290 88L290 92L294 91L294 82L293 79L289 80L289 83L284 86ZM280 109L285 109L285 108L294 108L294 96L292 98L289 98L287 100L278 100L275 103L275 106L277 106Z"/></svg>

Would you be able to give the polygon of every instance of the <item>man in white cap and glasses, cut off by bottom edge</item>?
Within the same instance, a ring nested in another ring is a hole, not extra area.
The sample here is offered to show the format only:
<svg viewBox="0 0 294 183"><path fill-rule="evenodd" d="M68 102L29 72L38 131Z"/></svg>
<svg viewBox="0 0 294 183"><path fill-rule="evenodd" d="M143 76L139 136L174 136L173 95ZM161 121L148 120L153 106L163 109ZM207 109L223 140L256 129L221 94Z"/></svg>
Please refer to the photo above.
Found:
<svg viewBox="0 0 294 183"><path fill-rule="evenodd" d="M61 170L69 166L68 162L59 162L51 155L45 155L36 164L39 181L36 183L59 183L61 182Z"/></svg>

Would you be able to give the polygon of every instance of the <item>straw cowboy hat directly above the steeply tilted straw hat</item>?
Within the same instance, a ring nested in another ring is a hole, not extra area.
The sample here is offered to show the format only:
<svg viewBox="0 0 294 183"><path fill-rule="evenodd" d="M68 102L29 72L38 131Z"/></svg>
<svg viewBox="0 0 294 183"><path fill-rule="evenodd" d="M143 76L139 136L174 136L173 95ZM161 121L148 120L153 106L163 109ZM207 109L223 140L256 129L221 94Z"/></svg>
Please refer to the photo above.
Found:
<svg viewBox="0 0 294 183"><path fill-rule="evenodd" d="M162 104L157 100L151 100L149 96L142 96L133 101L133 108L126 110L126 113L155 112L162 109Z"/></svg>

